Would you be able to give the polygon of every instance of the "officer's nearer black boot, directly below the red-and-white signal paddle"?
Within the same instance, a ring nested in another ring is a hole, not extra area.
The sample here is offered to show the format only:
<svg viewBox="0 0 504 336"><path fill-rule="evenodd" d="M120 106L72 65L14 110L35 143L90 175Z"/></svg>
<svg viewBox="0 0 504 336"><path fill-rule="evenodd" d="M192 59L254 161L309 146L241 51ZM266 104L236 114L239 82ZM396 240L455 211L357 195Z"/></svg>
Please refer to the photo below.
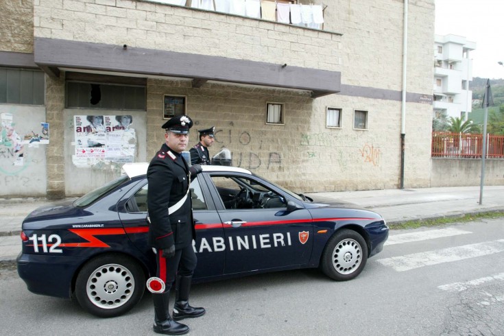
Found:
<svg viewBox="0 0 504 336"><path fill-rule="evenodd" d="M184 335L189 332L189 326L171 320L169 313L169 291L152 294L154 301L154 331L158 334Z"/></svg>

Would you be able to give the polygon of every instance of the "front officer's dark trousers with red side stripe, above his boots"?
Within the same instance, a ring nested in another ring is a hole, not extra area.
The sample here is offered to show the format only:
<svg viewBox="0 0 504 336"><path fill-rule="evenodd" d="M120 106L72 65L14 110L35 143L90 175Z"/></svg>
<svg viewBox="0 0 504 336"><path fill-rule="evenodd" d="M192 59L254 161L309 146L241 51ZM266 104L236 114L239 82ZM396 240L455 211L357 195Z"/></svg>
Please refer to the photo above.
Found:
<svg viewBox="0 0 504 336"><path fill-rule="evenodd" d="M163 257L163 250L156 251L156 276L165 282L165 293L170 291L176 276L193 276L197 263L193 245L175 250L171 258Z"/></svg>

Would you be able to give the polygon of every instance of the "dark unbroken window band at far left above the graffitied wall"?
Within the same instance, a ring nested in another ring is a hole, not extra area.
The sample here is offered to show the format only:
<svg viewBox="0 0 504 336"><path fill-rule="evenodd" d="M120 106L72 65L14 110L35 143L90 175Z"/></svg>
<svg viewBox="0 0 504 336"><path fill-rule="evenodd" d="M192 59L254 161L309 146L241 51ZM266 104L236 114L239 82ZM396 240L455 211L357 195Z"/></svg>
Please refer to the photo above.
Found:
<svg viewBox="0 0 504 336"><path fill-rule="evenodd" d="M0 103L44 105L44 73L0 68Z"/></svg>

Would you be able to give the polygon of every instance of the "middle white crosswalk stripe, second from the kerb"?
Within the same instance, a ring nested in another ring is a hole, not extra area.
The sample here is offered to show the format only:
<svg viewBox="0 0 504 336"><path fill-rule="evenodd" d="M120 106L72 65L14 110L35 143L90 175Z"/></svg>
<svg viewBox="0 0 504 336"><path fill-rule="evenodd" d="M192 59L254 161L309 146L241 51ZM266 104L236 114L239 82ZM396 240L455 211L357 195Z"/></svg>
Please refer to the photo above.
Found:
<svg viewBox="0 0 504 336"><path fill-rule="evenodd" d="M378 259L377 261L382 265L394 268L397 272L404 272L419 267L450 263L503 251L504 239L499 239L496 241L457 246L455 248L444 248L441 250L407 254L405 256L393 256L392 258Z"/></svg>

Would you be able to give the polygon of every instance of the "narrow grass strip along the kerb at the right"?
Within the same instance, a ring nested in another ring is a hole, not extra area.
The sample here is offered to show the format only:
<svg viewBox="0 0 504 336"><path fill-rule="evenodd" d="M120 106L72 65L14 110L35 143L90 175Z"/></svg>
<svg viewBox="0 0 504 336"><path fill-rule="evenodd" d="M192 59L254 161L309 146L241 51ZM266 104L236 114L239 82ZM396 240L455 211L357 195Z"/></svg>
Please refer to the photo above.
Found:
<svg viewBox="0 0 504 336"><path fill-rule="evenodd" d="M416 219L414 221L403 221L401 223L391 223L391 230L420 228L422 226L442 226L444 224L466 223L480 219L496 219L504 217L504 211L490 211L487 213L468 213L460 216L441 217L433 219Z"/></svg>

